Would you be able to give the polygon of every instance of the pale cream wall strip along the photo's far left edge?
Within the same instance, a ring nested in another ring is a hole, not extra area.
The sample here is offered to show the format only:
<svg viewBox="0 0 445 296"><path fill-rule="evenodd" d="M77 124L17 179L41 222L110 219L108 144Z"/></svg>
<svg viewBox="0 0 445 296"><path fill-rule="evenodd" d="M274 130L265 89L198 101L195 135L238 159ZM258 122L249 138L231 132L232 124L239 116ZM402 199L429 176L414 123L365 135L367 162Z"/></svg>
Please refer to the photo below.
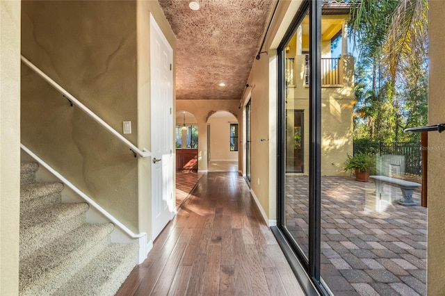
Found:
<svg viewBox="0 0 445 296"><path fill-rule="evenodd" d="M0 295L18 295L20 1L0 1L0 52Z"/></svg>

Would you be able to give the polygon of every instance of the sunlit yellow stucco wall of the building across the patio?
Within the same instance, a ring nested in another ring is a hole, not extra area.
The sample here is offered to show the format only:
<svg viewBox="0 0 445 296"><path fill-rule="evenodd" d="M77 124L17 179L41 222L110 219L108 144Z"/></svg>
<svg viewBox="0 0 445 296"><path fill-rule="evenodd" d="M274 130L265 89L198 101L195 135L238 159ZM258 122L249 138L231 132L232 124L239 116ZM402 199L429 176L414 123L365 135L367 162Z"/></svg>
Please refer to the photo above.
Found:
<svg viewBox="0 0 445 296"><path fill-rule="evenodd" d="M304 56L297 56L296 87L289 88L286 108L304 110L304 151L309 151L309 87L304 81ZM354 60L341 57L342 84L321 90L321 174L341 176L347 154L353 154ZM304 172L309 174L309 154L304 156Z"/></svg>

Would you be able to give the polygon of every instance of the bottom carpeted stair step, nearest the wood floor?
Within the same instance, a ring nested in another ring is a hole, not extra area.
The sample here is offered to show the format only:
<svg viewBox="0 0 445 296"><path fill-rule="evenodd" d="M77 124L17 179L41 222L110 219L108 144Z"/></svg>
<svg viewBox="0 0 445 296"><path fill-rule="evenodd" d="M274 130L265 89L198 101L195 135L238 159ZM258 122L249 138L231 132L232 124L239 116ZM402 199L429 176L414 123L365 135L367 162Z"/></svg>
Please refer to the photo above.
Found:
<svg viewBox="0 0 445 296"><path fill-rule="evenodd" d="M138 245L111 244L54 295L115 295L136 262Z"/></svg>

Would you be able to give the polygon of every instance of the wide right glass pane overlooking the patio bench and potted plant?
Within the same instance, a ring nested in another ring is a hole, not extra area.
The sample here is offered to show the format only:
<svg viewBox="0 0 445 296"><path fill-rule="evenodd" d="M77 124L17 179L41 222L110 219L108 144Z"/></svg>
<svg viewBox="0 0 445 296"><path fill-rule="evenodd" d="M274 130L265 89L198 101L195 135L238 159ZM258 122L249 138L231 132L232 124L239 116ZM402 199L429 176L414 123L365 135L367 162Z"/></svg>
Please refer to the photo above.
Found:
<svg viewBox="0 0 445 296"><path fill-rule="evenodd" d="M381 17L372 31L385 31L389 6L369 9ZM337 28L321 40L321 278L334 295L426 295L421 144L401 126L428 117L428 57L407 63L391 86L374 49L382 43L371 49L361 38L361 54L348 49L346 18L322 15L322 36ZM426 52L419 45L412 55Z"/></svg>

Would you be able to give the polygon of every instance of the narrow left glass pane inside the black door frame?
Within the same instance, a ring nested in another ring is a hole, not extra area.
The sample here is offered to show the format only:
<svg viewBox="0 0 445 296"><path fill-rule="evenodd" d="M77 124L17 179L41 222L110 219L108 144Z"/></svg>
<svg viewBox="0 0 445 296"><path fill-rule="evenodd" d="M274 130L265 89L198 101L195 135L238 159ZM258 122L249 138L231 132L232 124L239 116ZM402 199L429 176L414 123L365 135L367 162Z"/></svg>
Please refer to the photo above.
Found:
<svg viewBox="0 0 445 296"><path fill-rule="evenodd" d="M307 16L306 16L307 17ZM305 86L304 52L309 51L309 24L303 22L285 47L284 79L284 231L300 255L309 258L309 92Z"/></svg>

